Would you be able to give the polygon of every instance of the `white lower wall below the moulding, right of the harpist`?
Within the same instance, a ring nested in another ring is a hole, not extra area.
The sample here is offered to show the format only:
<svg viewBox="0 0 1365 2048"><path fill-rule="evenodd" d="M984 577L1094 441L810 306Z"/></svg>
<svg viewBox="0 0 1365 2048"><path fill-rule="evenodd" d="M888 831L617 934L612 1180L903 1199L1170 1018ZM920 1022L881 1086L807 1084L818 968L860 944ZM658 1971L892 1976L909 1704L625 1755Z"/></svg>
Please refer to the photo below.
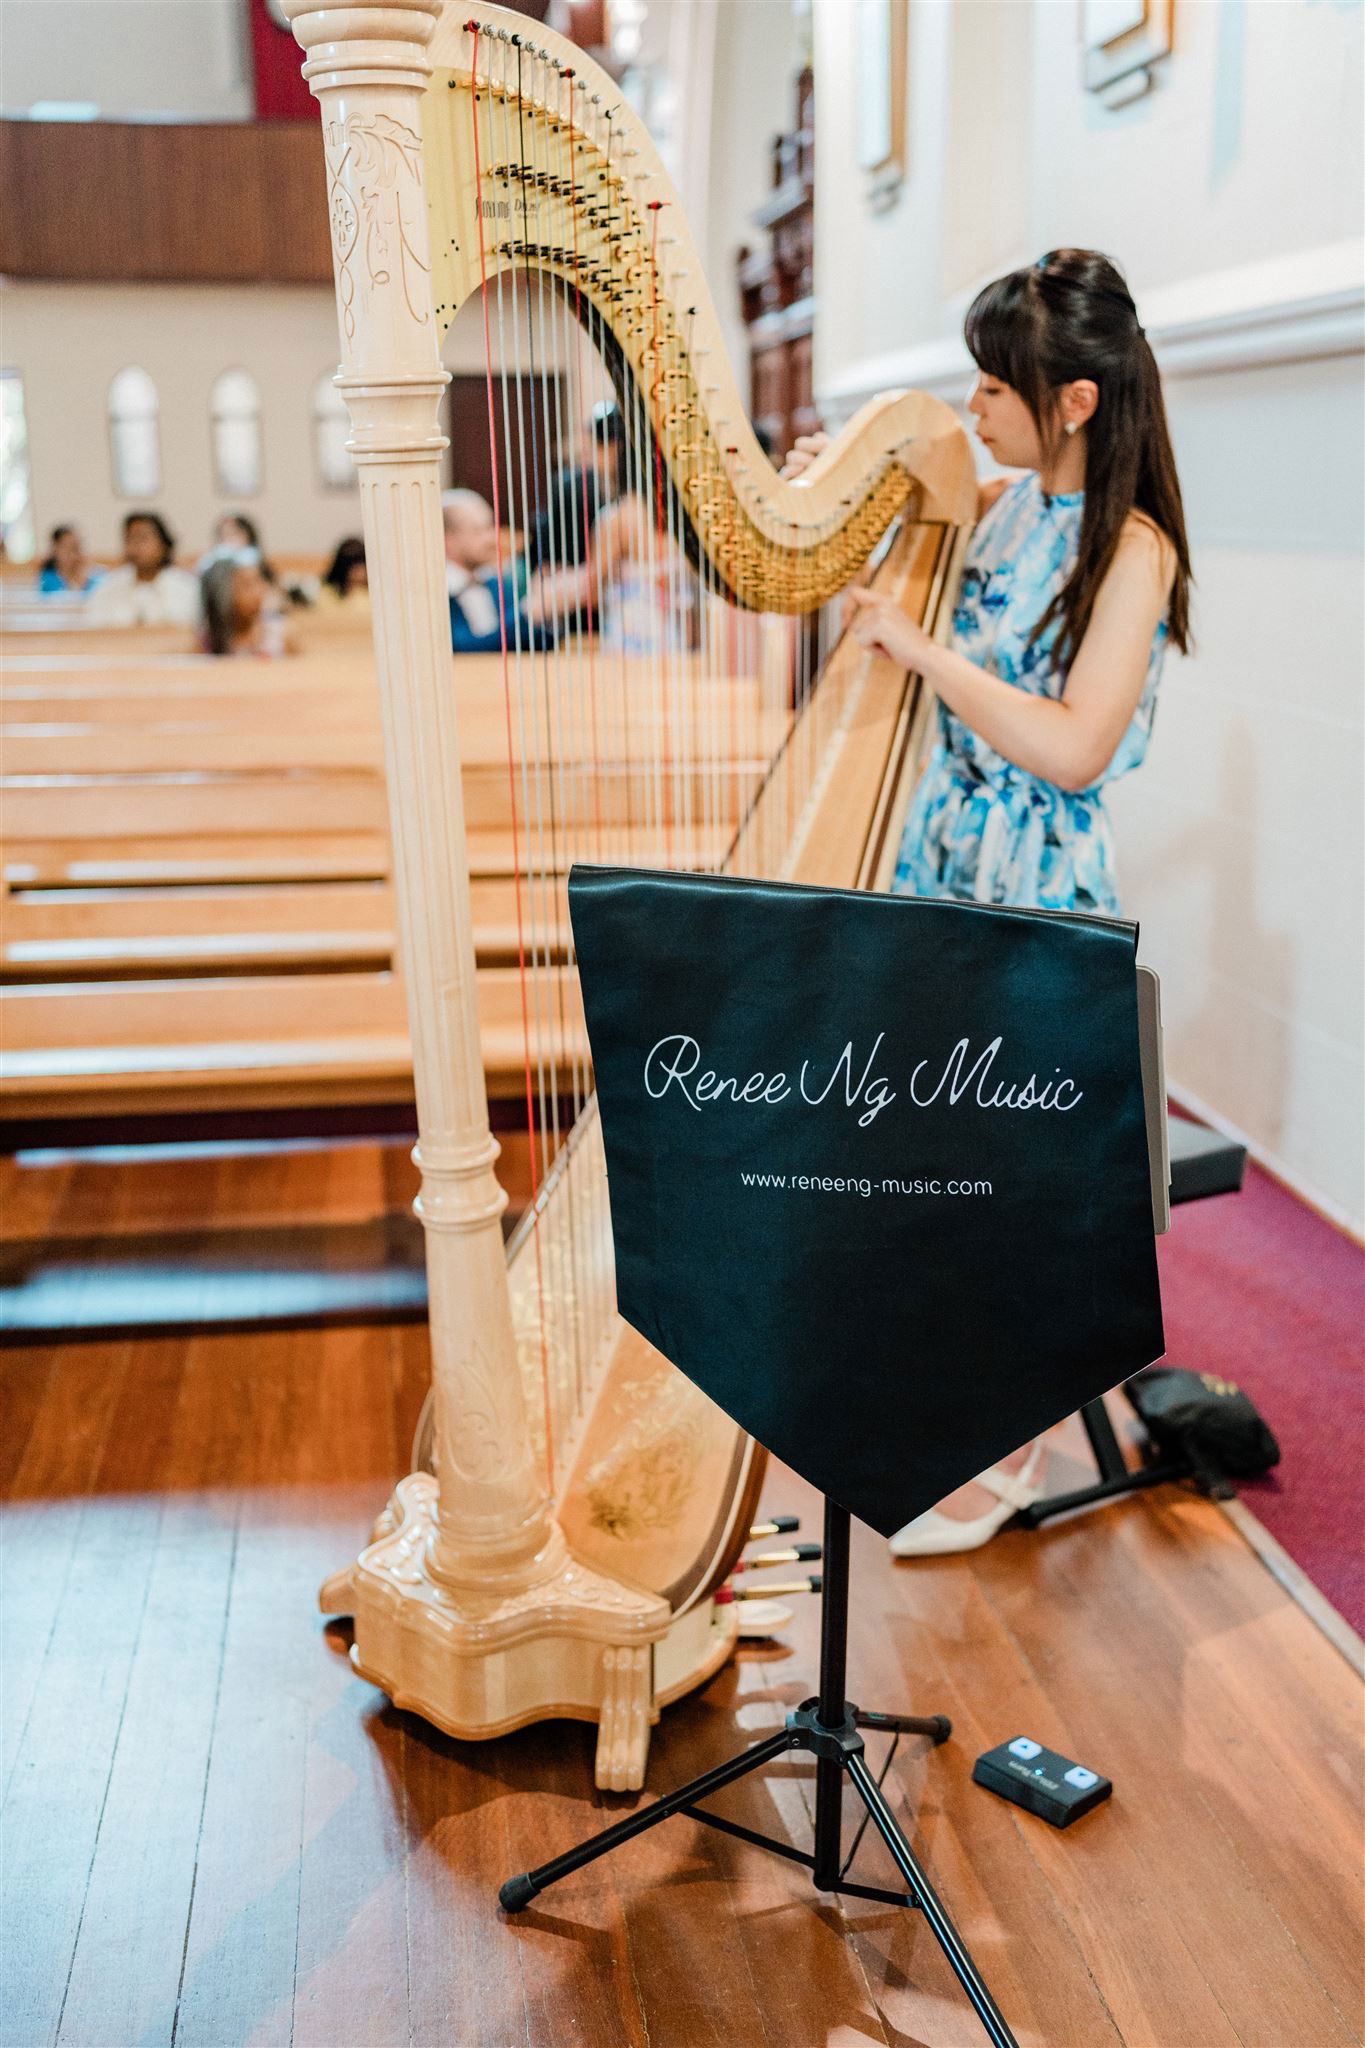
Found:
<svg viewBox="0 0 1365 2048"><path fill-rule="evenodd" d="M1361 362L1177 379L1169 397L1197 647L1113 797L1126 907L1162 975L1177 1085L1359 1227Z"/></svg>

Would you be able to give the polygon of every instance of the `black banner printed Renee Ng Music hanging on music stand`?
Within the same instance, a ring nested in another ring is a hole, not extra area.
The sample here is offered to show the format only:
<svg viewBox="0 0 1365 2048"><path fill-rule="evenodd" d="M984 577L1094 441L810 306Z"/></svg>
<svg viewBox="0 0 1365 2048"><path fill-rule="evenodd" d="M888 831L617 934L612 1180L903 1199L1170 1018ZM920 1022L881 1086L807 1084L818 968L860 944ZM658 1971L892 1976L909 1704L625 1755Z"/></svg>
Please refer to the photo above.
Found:
<svg viewBox="0 0 1365 2048"><path fill-rule="evenodd" d="M882 1534L1160 1356L1136 928L575 868L620 1313Z"/></svg>

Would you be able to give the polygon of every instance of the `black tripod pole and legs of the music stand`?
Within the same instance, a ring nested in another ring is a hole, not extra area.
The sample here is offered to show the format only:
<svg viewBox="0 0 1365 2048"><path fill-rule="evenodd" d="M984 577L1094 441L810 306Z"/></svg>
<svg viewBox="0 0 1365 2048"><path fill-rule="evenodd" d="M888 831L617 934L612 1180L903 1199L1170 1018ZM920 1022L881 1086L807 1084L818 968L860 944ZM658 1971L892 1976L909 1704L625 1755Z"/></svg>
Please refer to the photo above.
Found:
<svg viewBox="0 0 1365 2048"><path fill-rule="evenodd" d="M821 1690L814 1700L804 1700L786 1716L786 1726L778 1735L753 1743L729 1763L718 1763L702 1772L675 1792L665 1792L651 1806L643 1806L628 1819L591 1835L577 1849L567 1849L538 1870L526 1870L518 1878L508 1878L497 1898L505 1913L522 1913L532 1898L567 1878L583 1864L608 1855L647 1827L657 1827L675 1812L686 1812L692 1821L718 1829L722 1835L737 1835L753 1841L759 1849L786 1855L792 1864L804 1864L821 1892L839 1892L845 1898L876 1898L882 1905L919 1909L933 1931L935 1942L948 1956L958 1982L966 1991L976 2017L986 2030L993 2048L1017 2048L999 2005L986 1991L984 1978L954 1927L943 1901L921 1870L915 1851L905 1839L900 1825L882 1796L880 1780L868 1769L862 1729L876 1729L888 1735L927 1735L935 1743L945 1743L952 1722L943 1714L872 1714L862 1712L845 1696L847 1634L849 1634L849 1511L835 1501L825 1501L825 1559L823 1559L823 1608L821 1608ZM776 1841L757 1829L741 1827L737 1821L722 1821L720 1815L704 1812L698 1800L708 1798L722 1786L735 1784L749 1772L761 1769L788 1749L804 1749L814 1761L814 1853L794 1849L788 1841ZM843 1858L843 1774L853 1782L868 1815L853 1837L853 1847ZM892 1892L880 1884L851 1884L845 1876L853 1851L862 1841L862 1829L872 1821L878 1835L890 1849L890 1858L905 1878L905 1890Z"/></svg>

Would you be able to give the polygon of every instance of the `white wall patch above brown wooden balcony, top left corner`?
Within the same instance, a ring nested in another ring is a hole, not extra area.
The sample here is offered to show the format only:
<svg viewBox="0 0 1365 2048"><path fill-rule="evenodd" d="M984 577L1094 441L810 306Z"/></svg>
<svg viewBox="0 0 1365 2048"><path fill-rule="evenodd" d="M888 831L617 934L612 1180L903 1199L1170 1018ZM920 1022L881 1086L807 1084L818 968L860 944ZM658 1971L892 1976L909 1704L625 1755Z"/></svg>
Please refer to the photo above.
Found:
<svg viewBox="0 0 1365 2048"><path fill-rule="evenodd" d="M76 100L106 119L248 121L244 0L0 0L0 106Z"/></svg>

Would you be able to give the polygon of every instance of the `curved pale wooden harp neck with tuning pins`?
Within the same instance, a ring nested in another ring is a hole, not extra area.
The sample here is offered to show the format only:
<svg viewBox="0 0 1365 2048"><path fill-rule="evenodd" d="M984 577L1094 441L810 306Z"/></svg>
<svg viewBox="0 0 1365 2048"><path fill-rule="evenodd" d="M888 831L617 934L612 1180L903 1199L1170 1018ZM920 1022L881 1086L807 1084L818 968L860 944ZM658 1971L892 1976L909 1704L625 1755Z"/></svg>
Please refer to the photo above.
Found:
<svg viewBox="0 0 1365 2048"><path fill-rule="evenodd" d="M673 186L591 59L503 8L448 6L432 61L438 322L508 272L563 293L630 395L626 414L643 420L716 588L751 610L808 612L851 582L907 498L921 520L970 520L960 426L919 393L874 399L806 479L778 477L731 377Z"/></svg>

